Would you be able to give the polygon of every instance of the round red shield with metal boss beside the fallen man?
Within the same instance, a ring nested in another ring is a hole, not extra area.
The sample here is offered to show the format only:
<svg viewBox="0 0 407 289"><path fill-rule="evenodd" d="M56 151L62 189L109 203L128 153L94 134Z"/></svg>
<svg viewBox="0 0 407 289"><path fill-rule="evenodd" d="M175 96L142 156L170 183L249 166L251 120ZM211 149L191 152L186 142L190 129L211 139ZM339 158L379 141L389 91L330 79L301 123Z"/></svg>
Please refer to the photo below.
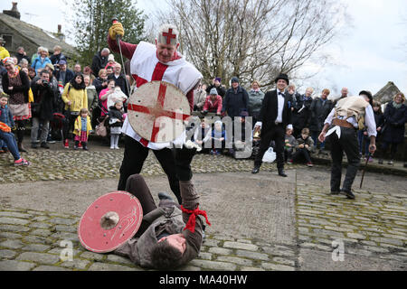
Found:
<svg viewBox="0 0 407 289"><path fill-rule="evenodd" d="M132 238L143 219L140 201L127 191L95 200L80 218L80 244L96 253L111 252Z"/></svg>

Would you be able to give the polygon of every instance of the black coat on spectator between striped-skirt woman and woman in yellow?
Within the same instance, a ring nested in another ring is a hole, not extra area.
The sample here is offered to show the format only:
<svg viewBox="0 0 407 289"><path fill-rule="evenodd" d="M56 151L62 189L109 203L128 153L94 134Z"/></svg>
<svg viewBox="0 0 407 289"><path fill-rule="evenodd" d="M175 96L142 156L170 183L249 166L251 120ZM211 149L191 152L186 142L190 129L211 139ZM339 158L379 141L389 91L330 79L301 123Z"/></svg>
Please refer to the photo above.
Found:
<svg viewBox="0 0 407 289"><path fill-rule="evenodd" d="M52 120L53 105L54 105L54 94L52 91L52 83L47 85L32 83L31 89L33 89L33 104L40 104L40 112L35 114L33 112L33 117L39 117L43 120Z"/></svg>

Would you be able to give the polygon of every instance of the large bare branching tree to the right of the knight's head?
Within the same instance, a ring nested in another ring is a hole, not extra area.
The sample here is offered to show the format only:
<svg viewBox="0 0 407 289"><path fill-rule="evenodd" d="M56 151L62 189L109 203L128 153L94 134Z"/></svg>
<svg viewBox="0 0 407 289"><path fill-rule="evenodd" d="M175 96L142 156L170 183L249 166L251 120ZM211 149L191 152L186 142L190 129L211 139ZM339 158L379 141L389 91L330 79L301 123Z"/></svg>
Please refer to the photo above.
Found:
<svg viewBox="0 0 407 289"><path fill-rule="evenodd" d="M293 76L345 25L335 0L167 0L161 22L175 23L181 51L204 79L237 76L270 88L279 72ZM169 10L169 11L168 11ZM307 78L310 76L301 76Z"/></svg>

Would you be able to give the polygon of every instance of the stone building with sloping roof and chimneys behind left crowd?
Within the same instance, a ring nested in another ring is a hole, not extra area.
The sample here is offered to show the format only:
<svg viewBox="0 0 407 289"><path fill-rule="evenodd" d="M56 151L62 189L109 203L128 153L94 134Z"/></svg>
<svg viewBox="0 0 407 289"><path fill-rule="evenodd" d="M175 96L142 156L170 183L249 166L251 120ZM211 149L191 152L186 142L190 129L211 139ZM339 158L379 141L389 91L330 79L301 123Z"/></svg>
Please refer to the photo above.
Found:
<svg viewBox="0 0 407 289"><path fill-rule="evenodd" d="M51 55L53 47L60 45L62 53L73 58L75 49L70 44L64 42L65 36L61 30L62 26L58 25L58 32L50 33L21 21L16 2L13 2L11 10L3 10L3 13L0 13L0 36L5 40L4 46L10 52L10 55L14 55L20 46L24 47L29 57L36 53L40 46L48 48Z"/></svg>

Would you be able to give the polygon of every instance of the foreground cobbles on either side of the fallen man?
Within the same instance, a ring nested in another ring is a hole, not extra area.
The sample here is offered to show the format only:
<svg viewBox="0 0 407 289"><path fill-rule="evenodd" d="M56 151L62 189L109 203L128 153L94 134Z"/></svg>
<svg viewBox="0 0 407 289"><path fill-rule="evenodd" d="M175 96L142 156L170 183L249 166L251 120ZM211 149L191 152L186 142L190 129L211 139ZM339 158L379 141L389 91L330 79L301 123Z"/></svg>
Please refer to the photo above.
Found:
<svg viewBox="0 0 407 289"><path fill-rule="evenodd" d="M2 208L0 270L143 270L127 258L81 247L76 234L79 219L49 211ZM68 246L73 249L71 261ZM208 236L200 256L179 270L294 270L295 263L294 247L216 235Z"/></svg>

